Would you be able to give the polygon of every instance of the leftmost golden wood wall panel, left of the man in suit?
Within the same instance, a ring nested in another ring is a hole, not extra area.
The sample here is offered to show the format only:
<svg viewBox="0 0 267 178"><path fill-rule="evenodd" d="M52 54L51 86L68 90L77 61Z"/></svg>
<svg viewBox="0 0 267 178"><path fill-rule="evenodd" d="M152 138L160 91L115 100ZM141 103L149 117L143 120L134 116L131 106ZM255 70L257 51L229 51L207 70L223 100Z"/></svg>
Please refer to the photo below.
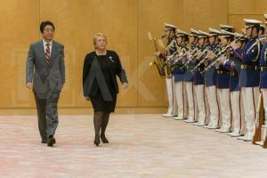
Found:
<svg viewBox="0 0 267 178"><path fill-rule="evenodd" d="M0 108L33 106L25 88L29 44L39 38L39 1L0 1Z"/></svg>

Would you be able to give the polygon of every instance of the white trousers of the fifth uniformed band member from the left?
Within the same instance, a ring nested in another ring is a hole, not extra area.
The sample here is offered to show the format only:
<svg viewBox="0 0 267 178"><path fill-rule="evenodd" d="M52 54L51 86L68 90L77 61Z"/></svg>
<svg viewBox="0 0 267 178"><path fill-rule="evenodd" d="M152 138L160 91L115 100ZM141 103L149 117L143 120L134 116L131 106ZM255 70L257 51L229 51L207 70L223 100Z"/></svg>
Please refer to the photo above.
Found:
<svg viewBox="0 0 267 178"><path fill-rule="evenodd" d="M216 86L206 86L206 98L210 110L210 124L219 125L219 104L216 93Z"/></svg>

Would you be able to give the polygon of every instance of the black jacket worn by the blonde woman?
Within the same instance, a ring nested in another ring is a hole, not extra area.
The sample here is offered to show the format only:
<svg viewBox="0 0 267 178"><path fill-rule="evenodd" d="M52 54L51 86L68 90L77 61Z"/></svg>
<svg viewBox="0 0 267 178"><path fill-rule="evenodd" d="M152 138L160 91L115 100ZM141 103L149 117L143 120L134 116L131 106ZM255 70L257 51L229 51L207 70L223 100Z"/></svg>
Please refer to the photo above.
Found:
<svg viewBox="0 0 267 178"><path fill-rule="evenodd" d="M100 60L98 60L100 58ZM125 70L117 53L107 51L105 56L97 56L95 52L85 56L83 70L83 88L85 96L95 96L98 89L105 101L112 101L118 93L117 77L121 83L127 83Z"/></svg>

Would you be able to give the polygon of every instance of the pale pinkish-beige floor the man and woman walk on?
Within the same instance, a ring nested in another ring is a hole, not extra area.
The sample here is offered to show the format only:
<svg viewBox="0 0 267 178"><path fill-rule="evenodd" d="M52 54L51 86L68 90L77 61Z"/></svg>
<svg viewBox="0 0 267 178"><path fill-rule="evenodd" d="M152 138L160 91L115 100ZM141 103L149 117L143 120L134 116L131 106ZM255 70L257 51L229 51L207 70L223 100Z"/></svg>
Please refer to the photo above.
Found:
<svg viewBox="0 0 267 178"><path fill-rule="evenodd" d="M112 115L109 144L93 145L93 116L60 116L57 144L36 117L0 117L2 178L266 177L267 150L159 115Z"/></svg>

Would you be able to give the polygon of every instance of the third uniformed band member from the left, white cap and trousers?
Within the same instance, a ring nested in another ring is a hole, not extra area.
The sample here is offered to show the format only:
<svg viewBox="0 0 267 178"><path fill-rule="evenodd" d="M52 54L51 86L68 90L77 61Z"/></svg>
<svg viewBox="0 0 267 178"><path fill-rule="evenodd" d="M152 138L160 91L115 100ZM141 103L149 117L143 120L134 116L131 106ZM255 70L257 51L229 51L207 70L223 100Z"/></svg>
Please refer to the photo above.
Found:
<svg viewBox="0 0 267 178"><path fill-rule="evenodd" d="M186 60L183 62L183 68L185 74L183 81L185 83L187 101L188 101L188 118L184 120L186 123L194 123L198 119L198 106L196 102L196 95L193 88L194 75L191 69L195 67L194 63L190 61L192 55L197 52L198 49L198 31L190 28L189 42L187 44L189 51L187 52Z"/></svg>

